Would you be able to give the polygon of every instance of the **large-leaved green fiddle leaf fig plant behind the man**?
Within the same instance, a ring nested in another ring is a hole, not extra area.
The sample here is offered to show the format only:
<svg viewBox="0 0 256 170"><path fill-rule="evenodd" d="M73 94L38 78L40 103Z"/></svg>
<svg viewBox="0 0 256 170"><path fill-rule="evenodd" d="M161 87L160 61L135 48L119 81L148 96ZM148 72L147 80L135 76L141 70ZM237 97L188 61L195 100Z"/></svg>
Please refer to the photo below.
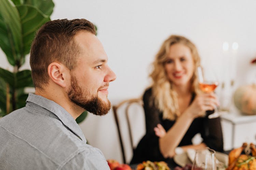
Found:
<svg viewBox="0 0 256 170"><path fill-rule="evenodd" d="M20 70L35 32L53 12L52 0L0 0L0 47L12 70L0 68L0 117L24 107L33 87L30 70Z"/></svg>

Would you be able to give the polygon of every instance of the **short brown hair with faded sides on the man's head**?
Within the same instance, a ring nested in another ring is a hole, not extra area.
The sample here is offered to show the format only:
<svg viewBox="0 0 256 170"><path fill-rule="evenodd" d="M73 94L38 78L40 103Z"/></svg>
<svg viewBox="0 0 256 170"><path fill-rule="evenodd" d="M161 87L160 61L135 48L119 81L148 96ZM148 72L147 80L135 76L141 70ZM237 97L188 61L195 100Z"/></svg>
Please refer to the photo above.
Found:
<svg viewBox="0 0 256 170"><path fill-rule="evenodd" d="M46 22L37 32L30 50L30 67L35 88L43 89L49 81L48 65L64 64L69 70L76 66L79 46L74 36L80 31L96 35L94 24L86 19L58 19Z"/></svg>

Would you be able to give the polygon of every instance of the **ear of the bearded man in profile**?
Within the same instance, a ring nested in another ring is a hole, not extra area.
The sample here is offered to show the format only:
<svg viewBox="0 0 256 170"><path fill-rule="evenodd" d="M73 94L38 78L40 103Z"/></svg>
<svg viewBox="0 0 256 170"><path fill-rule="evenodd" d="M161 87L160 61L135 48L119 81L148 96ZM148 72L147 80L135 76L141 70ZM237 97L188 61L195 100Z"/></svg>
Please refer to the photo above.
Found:
<svg viewBox="0 0 256 170"><path fill-rule="evenodd" d="M53 62L48 65L49 78L59 86L65 88L68 86L69 71L63 64Z"/></svg>

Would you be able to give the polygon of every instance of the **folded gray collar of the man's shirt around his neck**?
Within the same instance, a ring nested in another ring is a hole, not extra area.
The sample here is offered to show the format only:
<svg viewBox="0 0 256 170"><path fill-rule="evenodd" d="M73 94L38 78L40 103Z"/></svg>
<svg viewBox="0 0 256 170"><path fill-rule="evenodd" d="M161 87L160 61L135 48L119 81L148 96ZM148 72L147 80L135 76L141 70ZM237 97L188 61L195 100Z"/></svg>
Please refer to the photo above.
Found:
<svg viewBox="0 0 256 170"><path fill-rule="evenodd" d="M65 126L67 126L73 133L79 136L80 139L86 142L84 134L80 129L79 125L76 123L75 119L62 106L60 106L52 100L46 99L42 96L35 95L32 93L29 93L26 102L32 102L52 112L60 119L60 121Z"/></svg>

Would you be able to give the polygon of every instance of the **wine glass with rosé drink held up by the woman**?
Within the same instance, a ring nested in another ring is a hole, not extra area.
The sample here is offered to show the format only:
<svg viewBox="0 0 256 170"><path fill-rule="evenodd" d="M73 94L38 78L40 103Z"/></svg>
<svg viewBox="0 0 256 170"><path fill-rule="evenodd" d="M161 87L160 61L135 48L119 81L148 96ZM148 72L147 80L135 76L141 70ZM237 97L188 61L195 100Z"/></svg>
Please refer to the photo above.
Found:
<svg viewBox="0 0 256 170"><path fill-rule="evenodd" d="M202 67L199 66L197 67L197 74L198 74L198 81L199 81L199 88L203 91L203 92L213 92L215 90L215 88L218 86L218 81L216 78L216 75L208 70L207 72L202 71ZM215 105L214 107L214 113L212 113L211 115L208 115L209 119L213 119L216 117L219 117L220 114L218 112L218 107Z"/></svg>

